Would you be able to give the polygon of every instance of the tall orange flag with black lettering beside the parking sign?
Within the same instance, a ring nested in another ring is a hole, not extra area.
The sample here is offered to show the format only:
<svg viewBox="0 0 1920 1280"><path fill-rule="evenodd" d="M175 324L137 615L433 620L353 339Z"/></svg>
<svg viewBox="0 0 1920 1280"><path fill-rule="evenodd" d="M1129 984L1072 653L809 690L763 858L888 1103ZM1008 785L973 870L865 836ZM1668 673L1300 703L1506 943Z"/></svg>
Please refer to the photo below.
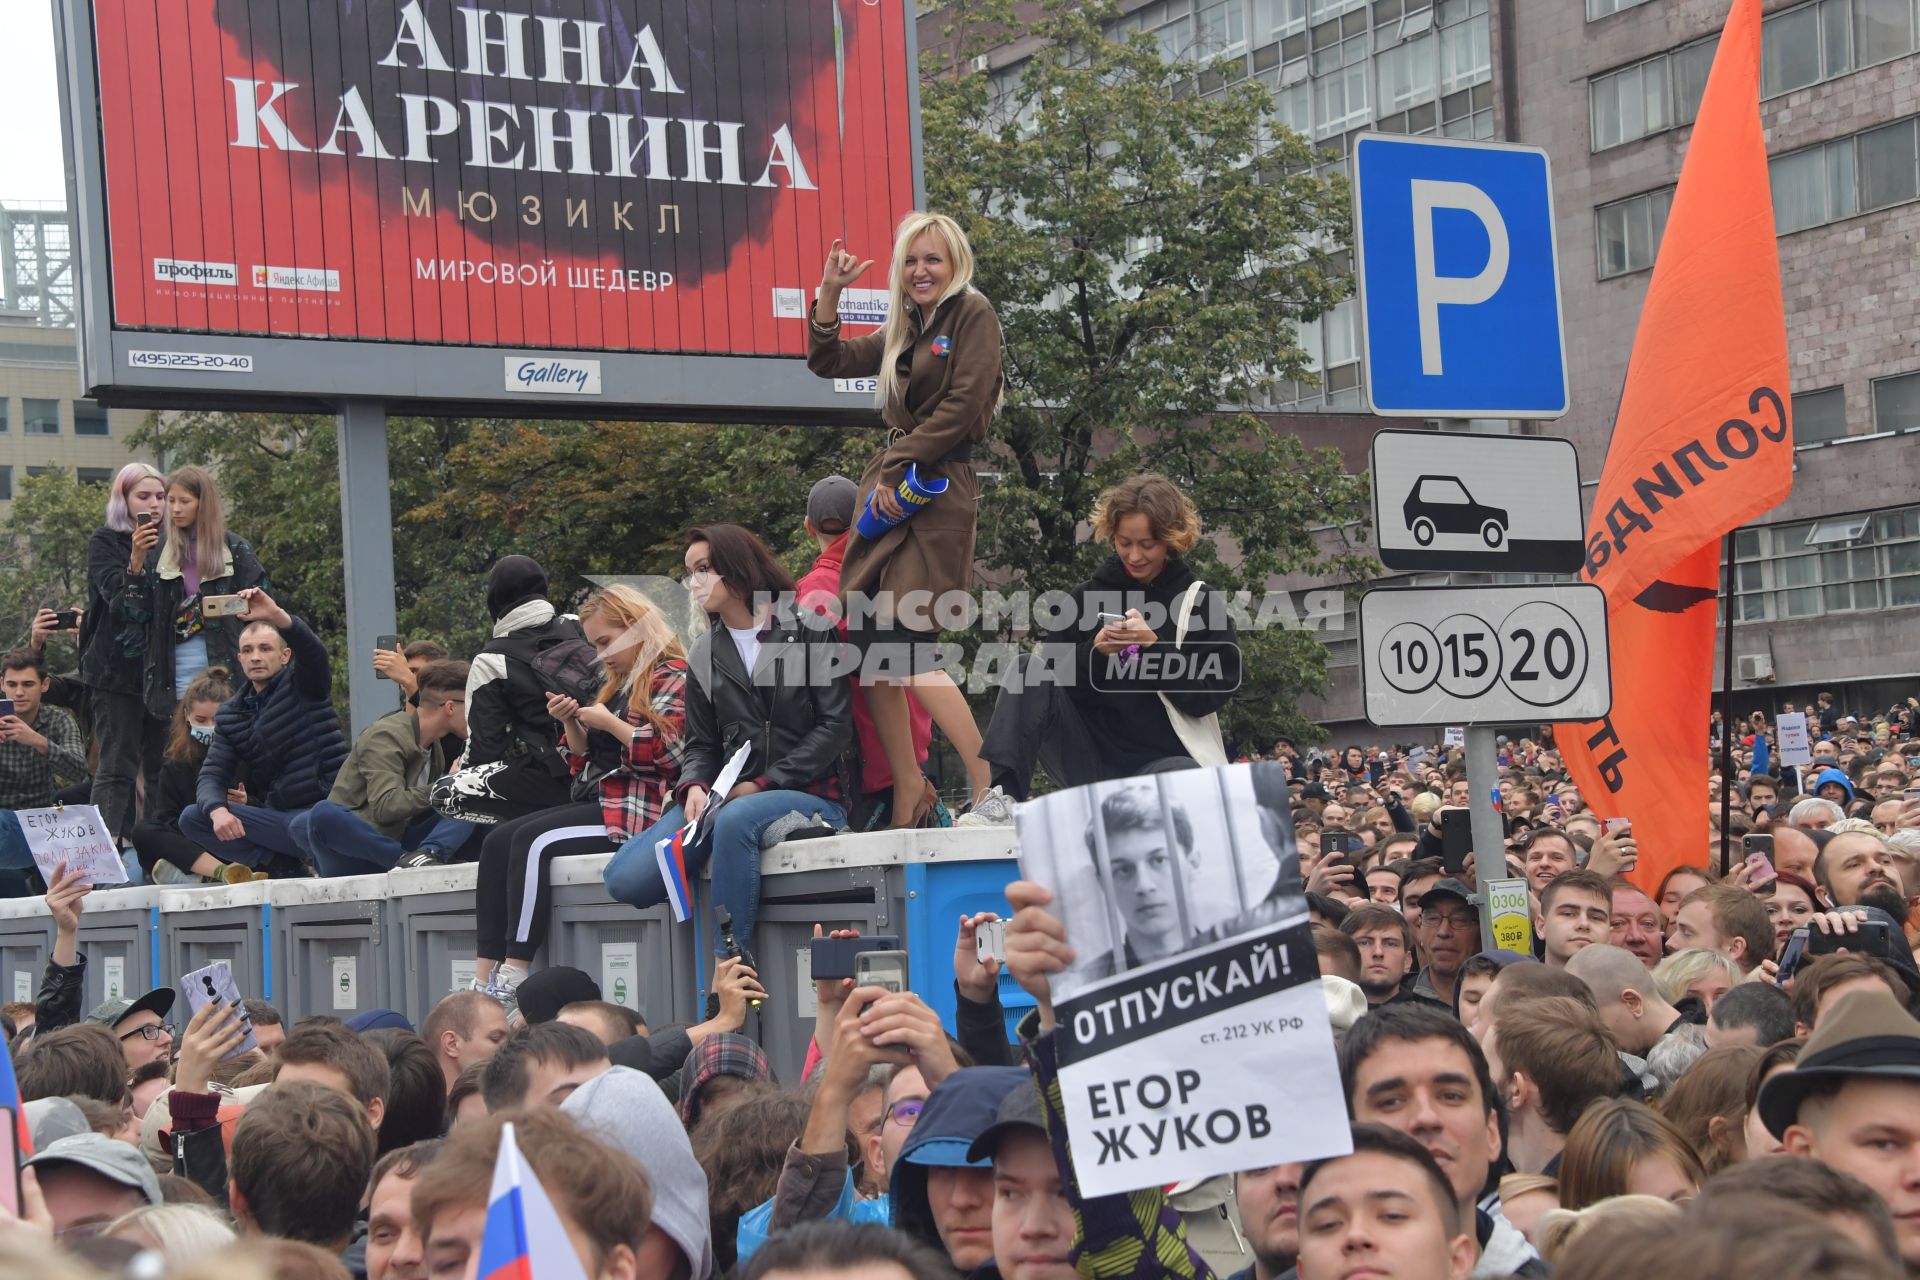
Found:
<svg viewBox="0 0 1920 1280"><path fill-rule="evenodd" d="M1707 852L1720 539L1793 486L1759 83L1761 0L1734 0L1588 518L1586 580L1607 593L1613 714L1555 733L1594 810L1632 819L1634 879L1649 892Z"/></svg>

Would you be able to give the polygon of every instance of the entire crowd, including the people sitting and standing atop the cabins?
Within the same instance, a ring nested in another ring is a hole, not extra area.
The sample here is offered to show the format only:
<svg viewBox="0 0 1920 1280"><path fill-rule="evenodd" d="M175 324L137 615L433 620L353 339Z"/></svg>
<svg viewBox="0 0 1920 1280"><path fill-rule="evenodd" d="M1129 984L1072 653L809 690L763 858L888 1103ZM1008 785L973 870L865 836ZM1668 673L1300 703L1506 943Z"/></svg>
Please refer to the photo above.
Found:
<svg viewBox="0 0 1920 1280"><path fill-rule="evenodd" d="M751 946L780 841L1008 825L1043 771L1229 762L1240 652L1185 558L1200 512L1158 474L1087 512L1112 555L977 725L933 649L937 603L972 585L998 322L960 228L914 215L885 326L843 340L837 301L870 265L833 246L808 363L876 378L889 436L858 482L812 486L804 576L753 530L691 528L708 626L680 635L637 589L568 610L507 557L478 652L371 654L397 706L357 739L326 647L227 530L215 478L119 474L86 599L0 656L0 875L56 923L38 1000L0 1009L33 1150L12 1196L0 1178L8 1265L474 1280L499 1261L482 1240L511 1125L574 1255L534 1274L1920 1274L1920 702L1862 722L1822 695L1801 770L1778 768L1764 714L1716 722L1734 766L1701 796L1716 839L1657 885L1634 879L1632 816L1592 812L1548 729L1500 743L1500 852L1459 844L1459 752L1254 752L1284 779L1275 835L1298 856L1352 1121L1352 1153L1304 1165L1081 1192L1052 1009L1073 938L1037 883L1008 885L1006 919L958 923L950 1023L927 1000L947 992L816 983L799 1080L745 1034L766 990L741 958L714 965L691 1027L534 969L561 854L607 854L609 892L655 906L657 844L693 831L691 869ZM77 670L48 676L69 629ZM1154 645L1215 660L1162 679L1139 662ZM935 725L966 771L958 818L925 777ZM13 819L56 802L96 804L169 885L476 862L474 981L419 1027L288 1027L253 998L182 1017L171 988L83 1013L90 885L42 879ZM1530 954L1482 946L1476 858L1526 883ZM987 923L1035 1004L1012 1032ZM1284 1125L1288 1084L1271 1090Z"/></svg>

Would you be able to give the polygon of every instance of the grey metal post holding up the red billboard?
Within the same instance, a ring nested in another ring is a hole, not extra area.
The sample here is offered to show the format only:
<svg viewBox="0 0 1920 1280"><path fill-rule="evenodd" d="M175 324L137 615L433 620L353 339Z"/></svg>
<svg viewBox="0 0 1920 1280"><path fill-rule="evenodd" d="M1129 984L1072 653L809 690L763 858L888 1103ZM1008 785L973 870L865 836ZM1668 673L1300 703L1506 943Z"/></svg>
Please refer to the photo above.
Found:
<svg viewBox="0 0 1920 1280"><path fill-rule="evenodd" d="M394 710L394 685L374 679L372 651L394 626L394 499L386 470L386 405L348 399L340 441L340 551L348 589L348 704L353 737Z"/></svg>

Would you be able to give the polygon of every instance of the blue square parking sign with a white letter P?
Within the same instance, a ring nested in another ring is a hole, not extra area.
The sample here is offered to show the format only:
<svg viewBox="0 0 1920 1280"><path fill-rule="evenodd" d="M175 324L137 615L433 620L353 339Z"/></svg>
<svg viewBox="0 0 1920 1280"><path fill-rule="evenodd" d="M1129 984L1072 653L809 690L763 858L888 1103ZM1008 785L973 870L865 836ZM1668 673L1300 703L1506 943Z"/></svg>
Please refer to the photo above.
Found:
<svg viewBox="0 0 1920 1280"><path fill-rule="evenodd" d="M1546 152L1365 134L1354 148L1354 246L1373 413L1567 413Z"/></svg>

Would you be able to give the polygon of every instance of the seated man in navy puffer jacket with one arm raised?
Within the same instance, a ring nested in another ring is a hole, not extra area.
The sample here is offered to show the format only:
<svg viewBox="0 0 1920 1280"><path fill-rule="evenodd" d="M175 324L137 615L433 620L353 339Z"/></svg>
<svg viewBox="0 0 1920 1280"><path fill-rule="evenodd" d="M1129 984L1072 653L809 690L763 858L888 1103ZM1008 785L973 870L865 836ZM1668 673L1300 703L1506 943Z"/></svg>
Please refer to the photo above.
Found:
<svg viewBox="0 0 1920 1280"><path fill-rule="evenodd" d="M240 595L248 683L213 720L198 804L180 814L180 835L223 862L265 869L278 860L284 867L305 862L294 819L326 798L348 741L334 714L326 645L259 587ZM234 804L227 794L242 766L259 804Z"/></svg>

